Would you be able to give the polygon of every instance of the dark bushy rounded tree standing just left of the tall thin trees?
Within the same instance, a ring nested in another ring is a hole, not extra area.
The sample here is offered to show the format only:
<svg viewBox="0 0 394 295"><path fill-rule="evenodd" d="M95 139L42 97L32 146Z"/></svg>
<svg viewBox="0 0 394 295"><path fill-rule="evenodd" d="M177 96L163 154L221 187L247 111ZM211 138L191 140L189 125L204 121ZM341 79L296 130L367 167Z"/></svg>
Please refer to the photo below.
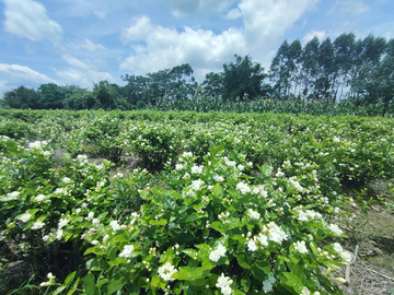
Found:
<svg viewBox="0 0 394 295"><path fill-rule="evenodd" d="M235 55L235 62L224 63L223 87L224 97L244 99L247 94L250 98L256 98L263 94L262 82L266 78L264 68L252 58Z"/></svg>

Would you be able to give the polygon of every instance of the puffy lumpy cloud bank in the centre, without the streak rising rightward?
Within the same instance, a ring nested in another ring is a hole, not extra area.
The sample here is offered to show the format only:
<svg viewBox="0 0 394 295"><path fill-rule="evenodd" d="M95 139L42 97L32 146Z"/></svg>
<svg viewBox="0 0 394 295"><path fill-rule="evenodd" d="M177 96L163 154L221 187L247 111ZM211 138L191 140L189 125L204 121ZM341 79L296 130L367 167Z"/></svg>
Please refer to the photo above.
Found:
<svg viewBox="0 0 394 295"><path fill-rule="evenodd" d="M141 23L148 24L143 34L138 31ZM142 74L185 62L202 68L209 64L216 67L234 54L246 54L243 32L237 28L231 27L219 35L190 27L178 33L174 28L152 24L147 16L127 28L120 39L124 43L146 43L132 45L135 54L120 63L120 69Z"/></svg>

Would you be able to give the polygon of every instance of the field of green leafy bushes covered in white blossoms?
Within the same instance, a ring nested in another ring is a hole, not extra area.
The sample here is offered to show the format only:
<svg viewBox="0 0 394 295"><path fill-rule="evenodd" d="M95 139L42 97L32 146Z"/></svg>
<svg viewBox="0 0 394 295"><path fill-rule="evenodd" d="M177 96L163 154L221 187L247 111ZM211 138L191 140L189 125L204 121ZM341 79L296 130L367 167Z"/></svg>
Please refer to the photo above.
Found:
<svg viewBox="0 0 394 295"><path fill-rule="evenodd" d="M5 294L341 294L340 187L394 173L390 118L1 115L0 262L36 285Z"/></svg>

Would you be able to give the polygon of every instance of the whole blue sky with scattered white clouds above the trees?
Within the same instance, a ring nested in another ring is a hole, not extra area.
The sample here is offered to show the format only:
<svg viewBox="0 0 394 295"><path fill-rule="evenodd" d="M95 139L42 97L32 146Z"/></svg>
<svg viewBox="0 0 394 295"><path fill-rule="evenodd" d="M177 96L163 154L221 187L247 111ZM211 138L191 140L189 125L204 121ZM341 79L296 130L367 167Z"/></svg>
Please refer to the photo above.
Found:
<svg viewBox="0 0 394 295"><path fill-rule="evenodd" d="M392 0L0 0L0 97L183 63L201 83L234 55L268 70L285 39L393 38L393 12Z"/></svg>

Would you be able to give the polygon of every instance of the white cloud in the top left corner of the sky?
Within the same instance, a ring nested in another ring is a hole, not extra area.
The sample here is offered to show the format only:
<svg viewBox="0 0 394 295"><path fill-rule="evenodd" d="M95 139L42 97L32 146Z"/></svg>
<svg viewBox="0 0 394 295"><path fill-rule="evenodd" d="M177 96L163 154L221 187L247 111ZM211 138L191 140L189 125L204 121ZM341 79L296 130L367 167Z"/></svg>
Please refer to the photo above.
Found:
<svg viewBox="0 0 394 295"><path fill-rule="evenodd" d="M61 26L50 20L42 3L33 0L3 0L7 32L31 40L57 40Z"/></svg>

